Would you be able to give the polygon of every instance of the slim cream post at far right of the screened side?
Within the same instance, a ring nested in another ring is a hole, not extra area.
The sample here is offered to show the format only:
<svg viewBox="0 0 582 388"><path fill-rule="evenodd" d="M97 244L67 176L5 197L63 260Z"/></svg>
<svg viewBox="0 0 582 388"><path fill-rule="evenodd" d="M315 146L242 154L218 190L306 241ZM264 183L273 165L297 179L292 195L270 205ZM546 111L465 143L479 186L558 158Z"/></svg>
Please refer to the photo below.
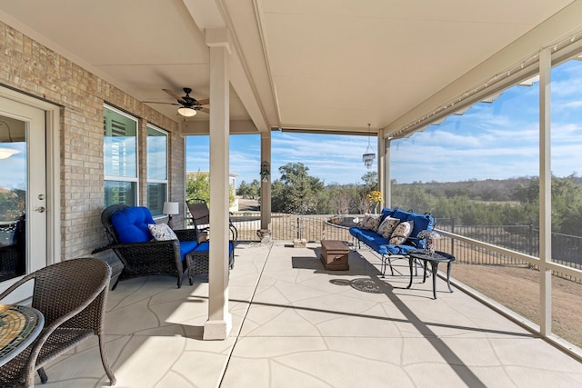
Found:
<svg viewBox="0 0 582 388"><path fill-rule="evenodd" d="M552 333L551 48L539 53L539 331Z"/></svg>

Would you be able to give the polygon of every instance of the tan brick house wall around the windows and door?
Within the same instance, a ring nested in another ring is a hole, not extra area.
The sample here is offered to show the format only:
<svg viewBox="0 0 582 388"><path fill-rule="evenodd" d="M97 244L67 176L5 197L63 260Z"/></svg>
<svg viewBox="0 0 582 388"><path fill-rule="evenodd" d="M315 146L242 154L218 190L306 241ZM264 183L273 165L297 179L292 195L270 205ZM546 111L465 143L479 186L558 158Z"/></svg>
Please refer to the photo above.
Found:
<svg viewBox="0 0 582 388"><path fill-rule="evenodd" d="M62 107L58 128L60 259L89 254L105 243L100 221L104 207L104 103L140 119L140 204L146 205L146 122L170 133L169 197L184 204L184 136L175 121L1 22L0 84ZM182 223L182 215L176 217L176 225Z"/></svg>

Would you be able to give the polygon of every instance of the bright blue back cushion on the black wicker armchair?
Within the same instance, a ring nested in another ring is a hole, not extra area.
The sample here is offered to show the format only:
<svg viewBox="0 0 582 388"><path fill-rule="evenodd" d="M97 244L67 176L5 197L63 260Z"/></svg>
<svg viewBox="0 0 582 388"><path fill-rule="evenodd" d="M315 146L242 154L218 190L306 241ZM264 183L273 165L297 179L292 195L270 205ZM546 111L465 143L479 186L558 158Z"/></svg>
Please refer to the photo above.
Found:
<svg viewBox="0 0 582 388"><path fill-rule="evenodd" d="M156 224L156 221L147 207L130 206L113 214L111 224L120 243L145 243L152 239L147 224Z"/></svg>

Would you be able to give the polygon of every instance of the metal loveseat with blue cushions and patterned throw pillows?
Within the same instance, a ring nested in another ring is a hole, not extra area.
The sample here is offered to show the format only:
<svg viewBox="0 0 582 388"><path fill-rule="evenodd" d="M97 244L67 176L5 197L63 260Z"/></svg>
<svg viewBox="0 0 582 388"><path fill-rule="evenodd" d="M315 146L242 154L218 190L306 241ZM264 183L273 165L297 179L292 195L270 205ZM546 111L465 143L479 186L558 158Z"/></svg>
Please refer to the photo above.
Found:
<svg viewBox="0 0 582 388"><path fill-rule="evenodd" d="M380 254L384 277L386 265L394 275L392 258L406 257L408 252L425 247L426 240L418 238L418 234L425 230L432 231L434 226L435 218L430 214L385 208L381 214L366 215L357 226L349 229L349 233L358 247L360 243L364 243Z"/></svg>

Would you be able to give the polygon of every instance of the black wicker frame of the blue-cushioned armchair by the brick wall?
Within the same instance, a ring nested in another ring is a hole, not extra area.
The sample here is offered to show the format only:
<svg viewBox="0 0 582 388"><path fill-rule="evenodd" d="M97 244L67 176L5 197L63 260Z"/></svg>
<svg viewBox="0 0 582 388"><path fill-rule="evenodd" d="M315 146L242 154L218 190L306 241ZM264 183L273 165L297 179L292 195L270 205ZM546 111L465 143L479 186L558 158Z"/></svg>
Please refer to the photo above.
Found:
<svg viewBox="0 0 582 388"><path fill-rule="evenodd" d="M115 290L119 280L148 275L176 276L177 285L180 288L182 276L186 271L186 265L181 260L180 242L197 242L198 231L196 229L176 230L174 232L178 240L122 244L111 223L111 216L126 207L128 206L125 204L114 204L105 208L101 214L101 223L105 228L109 244L93 251L95 254L105 249L112 249L124 264L124 269L112 290Z"/></svg>

